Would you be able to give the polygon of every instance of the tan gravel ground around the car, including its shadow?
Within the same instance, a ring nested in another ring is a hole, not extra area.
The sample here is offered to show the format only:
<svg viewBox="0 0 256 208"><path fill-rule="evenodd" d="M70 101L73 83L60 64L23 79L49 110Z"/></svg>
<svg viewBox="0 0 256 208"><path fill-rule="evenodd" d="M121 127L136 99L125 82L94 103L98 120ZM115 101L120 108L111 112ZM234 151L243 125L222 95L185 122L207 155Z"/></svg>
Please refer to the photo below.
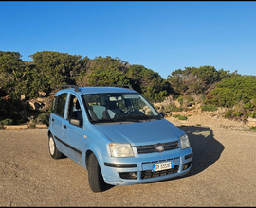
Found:
<svg viewBox="0 0 256 208"><path fill-rule="evenodd" d="M0 130L0 206L256 206L256 133L180 129L194 153L189 174L102 193L82 166L50 157L46 129Z"/></svg>

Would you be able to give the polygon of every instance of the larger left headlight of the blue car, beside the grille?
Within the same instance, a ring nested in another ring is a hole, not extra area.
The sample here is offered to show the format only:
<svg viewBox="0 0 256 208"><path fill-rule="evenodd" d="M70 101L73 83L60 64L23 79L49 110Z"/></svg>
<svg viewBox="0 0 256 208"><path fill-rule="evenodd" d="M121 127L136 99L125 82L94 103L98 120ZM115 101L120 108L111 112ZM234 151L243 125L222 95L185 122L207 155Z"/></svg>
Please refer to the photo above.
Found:
<svg viewBox="0 0 256 208"><path fill-rule="evenodd" d="M127 143L110 143L111 157L134 157L134 152L130 144Z"/></svg>

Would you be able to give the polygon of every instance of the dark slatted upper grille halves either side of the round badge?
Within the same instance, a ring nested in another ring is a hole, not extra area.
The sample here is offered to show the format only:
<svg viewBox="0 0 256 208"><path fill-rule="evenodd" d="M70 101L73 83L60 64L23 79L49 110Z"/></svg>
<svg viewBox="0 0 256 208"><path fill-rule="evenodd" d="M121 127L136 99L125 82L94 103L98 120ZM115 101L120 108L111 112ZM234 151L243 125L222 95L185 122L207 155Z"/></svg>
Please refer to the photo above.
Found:
<svg viewBox="0 0 256 208"><path fill-rule="evenodd" d="M164 151L170 151L170 150L179 148L178 141L162 143L162 145L164 147ZM137 146L137 153L138 154L148 154L148 153L158 152L158 150L155 148L156 146L157 146L157 144L148 145L148 146Z"/></svg>

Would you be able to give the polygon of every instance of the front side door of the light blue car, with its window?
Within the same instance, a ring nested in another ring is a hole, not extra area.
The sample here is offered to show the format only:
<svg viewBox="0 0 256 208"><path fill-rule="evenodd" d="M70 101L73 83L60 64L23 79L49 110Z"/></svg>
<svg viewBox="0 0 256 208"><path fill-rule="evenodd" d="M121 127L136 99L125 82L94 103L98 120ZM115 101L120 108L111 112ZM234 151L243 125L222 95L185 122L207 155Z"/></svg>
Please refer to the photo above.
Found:
<svg viewBox="0 0 256 208"><path fill-rule="evenodd" d="M70 94L67 103L67 115L64 120L64 152L82 164L82 126L83 116L81 101L76 95ZM80 126L70 123L71 119L79 119Z"/></svg>

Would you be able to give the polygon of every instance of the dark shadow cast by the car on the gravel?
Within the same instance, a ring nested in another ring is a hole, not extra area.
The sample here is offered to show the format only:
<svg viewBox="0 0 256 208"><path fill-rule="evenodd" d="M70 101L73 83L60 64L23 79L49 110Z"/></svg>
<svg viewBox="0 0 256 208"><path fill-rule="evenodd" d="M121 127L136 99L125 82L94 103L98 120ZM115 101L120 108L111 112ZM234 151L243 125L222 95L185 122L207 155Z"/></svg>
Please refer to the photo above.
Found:
<svg viewBox="0 0 256 208"><path fill-rule="evenodd" d="M180 126L189 136L193 158L192 168L184 177L196 175L219 160L224 146L214 138L208 127Z"/></svg>

